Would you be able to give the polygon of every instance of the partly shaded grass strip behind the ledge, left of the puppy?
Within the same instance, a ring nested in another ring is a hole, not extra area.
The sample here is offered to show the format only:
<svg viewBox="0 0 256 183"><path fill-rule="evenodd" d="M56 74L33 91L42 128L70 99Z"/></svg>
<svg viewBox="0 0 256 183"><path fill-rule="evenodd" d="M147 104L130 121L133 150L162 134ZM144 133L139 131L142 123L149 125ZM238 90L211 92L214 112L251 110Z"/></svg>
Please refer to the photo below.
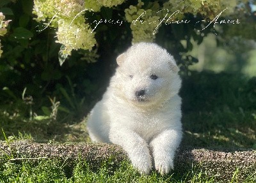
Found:
<svg viewBox="0 0 256 183"><path fill-rule="evenodd" d="M10 140L34 139L38 142L84 142L88 140L86 123L74 124L61 123L53 120L36 121L26 117L6 115L0 111L0 129ZM5 140L4 134L0 133L0 140Z"/></svg>

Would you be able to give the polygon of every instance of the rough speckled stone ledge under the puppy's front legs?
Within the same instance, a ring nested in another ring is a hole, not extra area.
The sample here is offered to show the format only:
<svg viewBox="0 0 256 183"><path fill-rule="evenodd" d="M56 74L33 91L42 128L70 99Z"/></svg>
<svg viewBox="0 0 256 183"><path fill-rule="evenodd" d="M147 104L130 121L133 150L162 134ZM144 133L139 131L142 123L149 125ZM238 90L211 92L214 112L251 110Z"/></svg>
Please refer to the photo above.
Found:
<svg viewBox="0 0 256 183"><path fill-rule="evenodd" d="M127 154L118 145L106 143L36 143L33 141L0 142L1 157L13 156L20 159L40 157L60 159L72 166L72 162L81 158L92 166L102 165L111 159L113 165L127 160ZM20 158L22 157L22 158ZM186 173L192 167L202 169L207 175L216 176L216 180L227 182L234 172L239 170L237 179L245 180L248 174L255 173L256 151L242 149L193 149L181 147L175 156L175 172ZM255 178L256 179L256 178ZM255 180L256 181L256 180Z"/></svg>

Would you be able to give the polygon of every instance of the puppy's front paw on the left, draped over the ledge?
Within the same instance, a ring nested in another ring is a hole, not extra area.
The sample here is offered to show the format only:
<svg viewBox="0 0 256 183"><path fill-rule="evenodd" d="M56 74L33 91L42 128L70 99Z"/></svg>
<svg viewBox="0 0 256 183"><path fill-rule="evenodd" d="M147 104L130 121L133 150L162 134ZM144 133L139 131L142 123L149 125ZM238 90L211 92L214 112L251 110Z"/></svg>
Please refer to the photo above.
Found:
<svg viewBox="0 0 256 183"><path fill-rule="evenodd" d="M151 157L148 156L133 156L131 158L132 165L136 168L141 174L148 175L150 170L152 170Z"/></svg>

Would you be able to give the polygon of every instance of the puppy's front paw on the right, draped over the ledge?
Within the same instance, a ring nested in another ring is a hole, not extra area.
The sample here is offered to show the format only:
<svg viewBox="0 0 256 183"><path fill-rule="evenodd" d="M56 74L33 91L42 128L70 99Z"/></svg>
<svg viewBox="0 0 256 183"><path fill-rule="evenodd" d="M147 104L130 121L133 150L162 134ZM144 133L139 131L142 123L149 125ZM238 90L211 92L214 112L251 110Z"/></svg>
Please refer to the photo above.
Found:
<svg viewBox="0 0 256 183"><path fill-rule="evenodd" d="M159 173L162 175L167 174L171 169L173 170L173 160L164 157L155 157L155 166Z"/></svg>

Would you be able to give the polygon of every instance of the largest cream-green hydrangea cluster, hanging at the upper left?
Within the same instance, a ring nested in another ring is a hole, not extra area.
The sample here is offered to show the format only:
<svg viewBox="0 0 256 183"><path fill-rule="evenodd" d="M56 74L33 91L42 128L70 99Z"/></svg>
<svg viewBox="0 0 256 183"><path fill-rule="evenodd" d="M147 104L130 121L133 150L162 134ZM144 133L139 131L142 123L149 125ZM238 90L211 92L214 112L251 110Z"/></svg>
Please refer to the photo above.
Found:
<svg viewBox="0 0 256 183"><path fill-rule="evenodd" d="M63 54L79 48L90 50L95 45L95 33L86 24L84 11L100 11L102 6L113 7L125 0L34 0L33 13L37 21L51 22L58 27L57 43L65 46ZM47 26L49 26L47 24Z"/></svg>

